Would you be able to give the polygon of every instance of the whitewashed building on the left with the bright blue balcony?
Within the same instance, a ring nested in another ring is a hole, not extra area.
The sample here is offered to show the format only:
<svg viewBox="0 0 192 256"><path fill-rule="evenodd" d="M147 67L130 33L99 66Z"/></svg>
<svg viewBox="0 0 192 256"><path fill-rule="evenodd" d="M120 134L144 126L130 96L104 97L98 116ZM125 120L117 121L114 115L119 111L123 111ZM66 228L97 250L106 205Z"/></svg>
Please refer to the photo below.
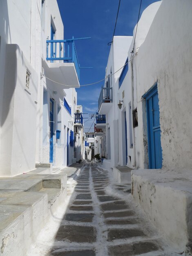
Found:
<svg viewBox="0 0 192 256"><path fill-rule="evenodd" d="M1 1L0 176L72 163L79 72L56 0Z"/></svg>

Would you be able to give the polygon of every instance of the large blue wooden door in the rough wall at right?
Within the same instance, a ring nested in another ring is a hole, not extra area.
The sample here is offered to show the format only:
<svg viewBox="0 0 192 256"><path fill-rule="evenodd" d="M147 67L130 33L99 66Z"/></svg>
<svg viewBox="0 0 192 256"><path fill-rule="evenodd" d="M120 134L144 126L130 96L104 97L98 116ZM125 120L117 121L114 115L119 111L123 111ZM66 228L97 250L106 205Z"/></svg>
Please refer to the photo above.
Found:
<svg viewBox="0 0 192 256"><path fill-rule="evenodd" d="M145 94L145 99L147 103L149 168L160 169L162 167L162 148L157 84Z"/></svg>

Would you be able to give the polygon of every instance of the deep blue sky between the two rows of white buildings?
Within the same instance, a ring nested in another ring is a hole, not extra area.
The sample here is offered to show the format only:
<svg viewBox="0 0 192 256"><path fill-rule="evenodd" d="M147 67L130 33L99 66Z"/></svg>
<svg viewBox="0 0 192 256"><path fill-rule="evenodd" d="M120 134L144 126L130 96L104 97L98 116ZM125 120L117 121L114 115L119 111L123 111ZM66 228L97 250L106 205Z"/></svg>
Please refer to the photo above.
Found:
<svg viewBox="0 0 192 256"><path fill-rule="evenodd" d="M64 24L64 38L91 37L75 42L80 66L93 67L93 69L80 70L80 85L105 78L110 50L107 43L112 40L119 0L57 0L57 2ZM156 1L143 0L141 13L153 2ZM139 6L140 0L121 0L115 36L132 36L138 19ZM89 118L89 114L96 112L102 85L104 83L100 82L76 89L78 105L83 105L83 112L88 113L83 117ZM85 132L89 130L93 121L94 119L84 119ZM93 131L93 128L94 124L90 131Z"/></svg>

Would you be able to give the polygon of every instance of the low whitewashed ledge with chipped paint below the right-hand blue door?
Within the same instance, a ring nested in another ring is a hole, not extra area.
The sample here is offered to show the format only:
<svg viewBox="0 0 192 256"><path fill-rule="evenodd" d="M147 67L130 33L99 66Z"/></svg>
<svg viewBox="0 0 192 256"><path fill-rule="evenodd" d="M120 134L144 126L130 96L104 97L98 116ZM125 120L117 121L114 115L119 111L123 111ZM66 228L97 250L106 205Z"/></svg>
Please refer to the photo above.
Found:
<svg viewBox="0 0 192 256"><path fill-rule="evenodd" d="M132 195L178 253L192 252L192 171L132 171Z"/></svg>

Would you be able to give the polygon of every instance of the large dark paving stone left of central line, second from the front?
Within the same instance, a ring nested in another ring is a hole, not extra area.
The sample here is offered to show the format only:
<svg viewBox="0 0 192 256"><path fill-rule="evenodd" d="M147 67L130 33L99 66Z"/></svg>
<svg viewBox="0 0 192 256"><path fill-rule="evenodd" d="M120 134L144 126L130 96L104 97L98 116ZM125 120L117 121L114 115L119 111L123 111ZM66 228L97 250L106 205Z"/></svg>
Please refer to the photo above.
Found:
<svg viewBox="0 0 192 256"><path fill-rule="evenodd" d="M56 240L76 243L96 242L96 229L94 227L66 225L60 226L56 234Z"/></svg>

